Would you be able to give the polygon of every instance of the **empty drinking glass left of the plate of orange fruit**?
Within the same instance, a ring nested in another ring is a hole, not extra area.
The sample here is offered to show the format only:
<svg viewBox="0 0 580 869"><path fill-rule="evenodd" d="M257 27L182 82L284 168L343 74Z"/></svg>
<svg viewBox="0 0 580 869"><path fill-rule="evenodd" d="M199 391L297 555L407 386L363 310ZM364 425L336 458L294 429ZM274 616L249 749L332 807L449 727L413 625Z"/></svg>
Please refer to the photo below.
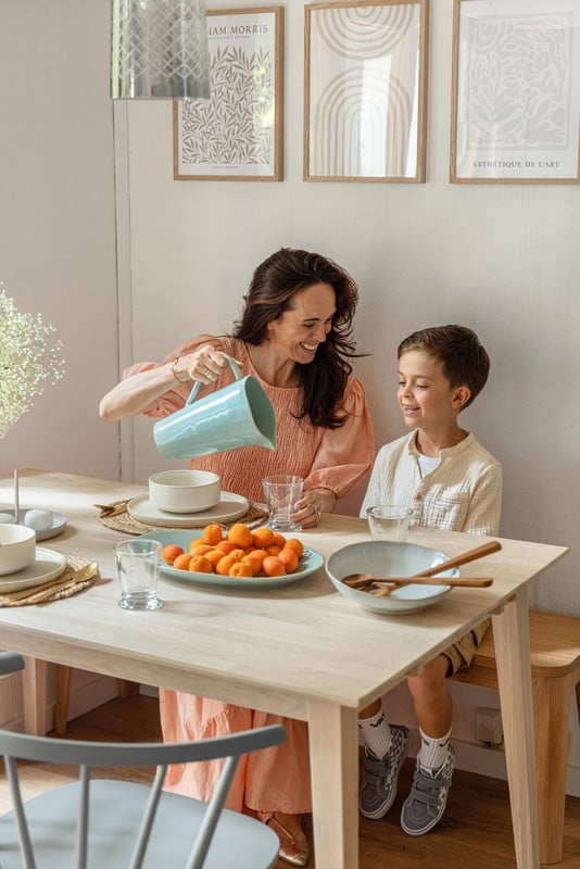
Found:
<svg viewBox="0 0 580 869"><path fill-rule="evenodd" d="M162 545L156 540L127 540L114 547L121 582L122 609L159 609L159 568Z"/></svg>

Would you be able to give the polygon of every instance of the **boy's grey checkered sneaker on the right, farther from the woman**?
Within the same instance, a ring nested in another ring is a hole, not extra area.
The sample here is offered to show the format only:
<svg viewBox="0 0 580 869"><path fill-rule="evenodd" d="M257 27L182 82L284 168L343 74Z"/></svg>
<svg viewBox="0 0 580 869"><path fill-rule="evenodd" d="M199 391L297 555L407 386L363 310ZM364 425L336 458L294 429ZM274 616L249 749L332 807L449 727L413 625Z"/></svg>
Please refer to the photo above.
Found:
<svg viewBox="0 0 580 869"><path fill-rule="evenodd" d="M451 777L455 768L455 752L449 746L447 759L434 772L428 772L417 760L411 794L403 803L401 827L408 835L423 835L432 830L443 817Z"/></svg>

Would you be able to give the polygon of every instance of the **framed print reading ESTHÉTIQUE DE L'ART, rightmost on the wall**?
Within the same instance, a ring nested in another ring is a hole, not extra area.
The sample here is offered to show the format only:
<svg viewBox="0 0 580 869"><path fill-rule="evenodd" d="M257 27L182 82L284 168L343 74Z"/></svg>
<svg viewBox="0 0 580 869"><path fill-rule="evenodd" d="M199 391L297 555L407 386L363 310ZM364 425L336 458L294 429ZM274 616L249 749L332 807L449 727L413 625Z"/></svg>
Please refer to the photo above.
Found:
<svg viewBox="0 0 580 869"><path fill-rule="evenodd" d="M580 0L454 0L452 184L580 184Z"/></svg>

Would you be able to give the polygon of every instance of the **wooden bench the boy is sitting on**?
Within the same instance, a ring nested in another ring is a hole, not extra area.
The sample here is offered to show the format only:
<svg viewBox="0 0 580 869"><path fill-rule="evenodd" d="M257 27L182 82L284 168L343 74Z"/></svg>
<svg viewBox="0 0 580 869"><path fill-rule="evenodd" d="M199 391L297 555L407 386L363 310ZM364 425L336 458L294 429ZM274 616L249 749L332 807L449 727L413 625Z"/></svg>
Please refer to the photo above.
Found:
<svg viewBox="0 0 580 869"><path fill-rule="evenodd" d="M530 610L530 651L540 859L543 865L551 865L562 860L569 716L575 690L580 718L580 618ZM497 688L491 629L471 666L453 679Z"/></svg>

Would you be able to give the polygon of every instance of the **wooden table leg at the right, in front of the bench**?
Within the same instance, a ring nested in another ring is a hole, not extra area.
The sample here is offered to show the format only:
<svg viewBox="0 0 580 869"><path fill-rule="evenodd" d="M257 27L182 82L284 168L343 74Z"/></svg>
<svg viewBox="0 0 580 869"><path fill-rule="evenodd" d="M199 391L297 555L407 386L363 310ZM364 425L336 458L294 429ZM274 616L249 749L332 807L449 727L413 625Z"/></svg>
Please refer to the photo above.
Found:
<svg viewBox="0 0 580 869"><path fill-rule="evenodd" d="M540 869L528 595L492 616L514 845L518 869Z"/></svg>

